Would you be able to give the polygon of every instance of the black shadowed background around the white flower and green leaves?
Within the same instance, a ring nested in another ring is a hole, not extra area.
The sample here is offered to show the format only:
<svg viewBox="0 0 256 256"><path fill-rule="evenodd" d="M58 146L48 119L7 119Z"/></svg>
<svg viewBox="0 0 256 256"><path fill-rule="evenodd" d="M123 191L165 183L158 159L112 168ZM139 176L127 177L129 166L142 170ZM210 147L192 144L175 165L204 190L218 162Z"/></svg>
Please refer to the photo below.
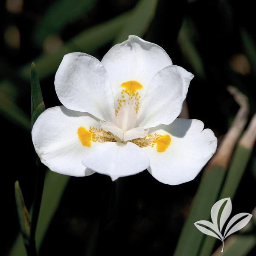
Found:
<svg viewBox="0 0 256 256"><path fill-rule="evenodd" d="M22 8L19 9L17 4L16 7L8 5L16 2L22 3ZM15 106L29 117L29 81L20 76L19 68L35 61L42 52L58 51L61 45L87 28L133 9L138 1L96 0L86 14L70 21L53 39L50 38L52 41L44 40L38 44L35 31L53 2L57 1L9 0L0 3L0 80L8 81L7 85L0 85L1 232L4 234L1 255L8 255L19 232L14 182L20 181L28 207L32 204L35 189L31 134L26 125L6 113L5 109L10 106L5 103L4 95L9 95ZM194 52L186 48L186 38L179 34L181 27L195 47L198 59L189 57ZM163 47L174 64L195 74L187 95L189 117L202 120L219 141L239 108L226 90L228 85L239 88L248 96L249 118L256 110L255 48L248 47L244 32L255 44L253 1L194 0L187 3L159 0L154 18L142 35L145 40ZM92 55L101 59L111 44L112 40ZM60 105L54 90L54 74L40 81L47 108ZM255 195L255 153L254 150L233 200L234 214L251 212L255 207L255 200L244 199ZM101 216L99 255L172 255L200 179L201 174L189 183L169 186L158 182L146 171L119 178L116 183L98 174L72 177L40 253L86 255ZM120 195L117 199L114 199L115 189Z"/></svg>

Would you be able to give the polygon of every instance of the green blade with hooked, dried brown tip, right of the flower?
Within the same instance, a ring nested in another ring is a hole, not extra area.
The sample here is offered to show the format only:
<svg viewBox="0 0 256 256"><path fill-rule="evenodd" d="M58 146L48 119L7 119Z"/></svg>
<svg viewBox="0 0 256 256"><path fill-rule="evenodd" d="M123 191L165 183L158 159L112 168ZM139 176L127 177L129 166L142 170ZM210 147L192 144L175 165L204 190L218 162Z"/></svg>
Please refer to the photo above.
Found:
<svg viewBox="0 0 256 256"><path fill-rule="evenodd" d="M233 94L240 108L215 156L204 170L188 218L183 226L175 256L198 255L205 235L194 227L194 223L209 219L211 207L218 198L233 149L247 122L247 97L234 87L229 87L229 92Z"/></svg>

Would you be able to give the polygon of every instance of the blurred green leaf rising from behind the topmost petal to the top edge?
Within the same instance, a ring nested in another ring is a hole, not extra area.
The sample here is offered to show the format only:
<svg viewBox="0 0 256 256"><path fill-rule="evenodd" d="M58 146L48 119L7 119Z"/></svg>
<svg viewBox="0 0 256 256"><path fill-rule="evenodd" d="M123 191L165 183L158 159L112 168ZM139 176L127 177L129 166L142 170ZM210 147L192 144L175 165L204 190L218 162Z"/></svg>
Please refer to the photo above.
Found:
<svg viewBox="0 0 256 256"><path fill-rule="evenodd" d="M127 40L129 35L142 37L154 17L156 6L157 0L140 0L126 21L125 26L116 36L113 44Z"/></svg>

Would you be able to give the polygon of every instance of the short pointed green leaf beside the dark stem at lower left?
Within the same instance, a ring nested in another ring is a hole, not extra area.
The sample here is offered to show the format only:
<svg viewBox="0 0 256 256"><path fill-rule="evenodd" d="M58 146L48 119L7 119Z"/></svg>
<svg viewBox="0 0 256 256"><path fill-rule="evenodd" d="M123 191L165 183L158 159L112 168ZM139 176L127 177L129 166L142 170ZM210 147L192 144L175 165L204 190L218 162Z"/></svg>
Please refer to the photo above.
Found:
<svg viewBox="0 0 256 256"><path fill-rule="evenodd" d="M24 243L26 244L29 241L31 221L18 181L15 182L15 200L20 223L20 230L24 239Z"/></svg>

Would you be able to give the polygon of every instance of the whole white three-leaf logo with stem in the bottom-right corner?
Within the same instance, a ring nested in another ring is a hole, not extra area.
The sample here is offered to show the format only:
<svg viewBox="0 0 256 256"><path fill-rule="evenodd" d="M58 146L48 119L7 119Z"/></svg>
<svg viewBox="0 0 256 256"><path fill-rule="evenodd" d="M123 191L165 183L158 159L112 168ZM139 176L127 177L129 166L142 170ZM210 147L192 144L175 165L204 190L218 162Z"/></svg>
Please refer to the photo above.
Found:
<svg viewBox="0 0 256 256"><path fill-rule="evenodd" d="M195 227L197 227L198 230L200 230L202 233L208 236L213 236L222 241L221 253L224 249L224 240L226 239L226 237L245 227L252 218L252 215L250 213L239 213L231 218L231 220L227 224L225 231L222 232L222 228L226 223L227 219L229 218L231 211L232 203L230 198L223 198L212 206L212 222L197 221L194 223ZM221 232L223 233L223 235Z"/></svg>

